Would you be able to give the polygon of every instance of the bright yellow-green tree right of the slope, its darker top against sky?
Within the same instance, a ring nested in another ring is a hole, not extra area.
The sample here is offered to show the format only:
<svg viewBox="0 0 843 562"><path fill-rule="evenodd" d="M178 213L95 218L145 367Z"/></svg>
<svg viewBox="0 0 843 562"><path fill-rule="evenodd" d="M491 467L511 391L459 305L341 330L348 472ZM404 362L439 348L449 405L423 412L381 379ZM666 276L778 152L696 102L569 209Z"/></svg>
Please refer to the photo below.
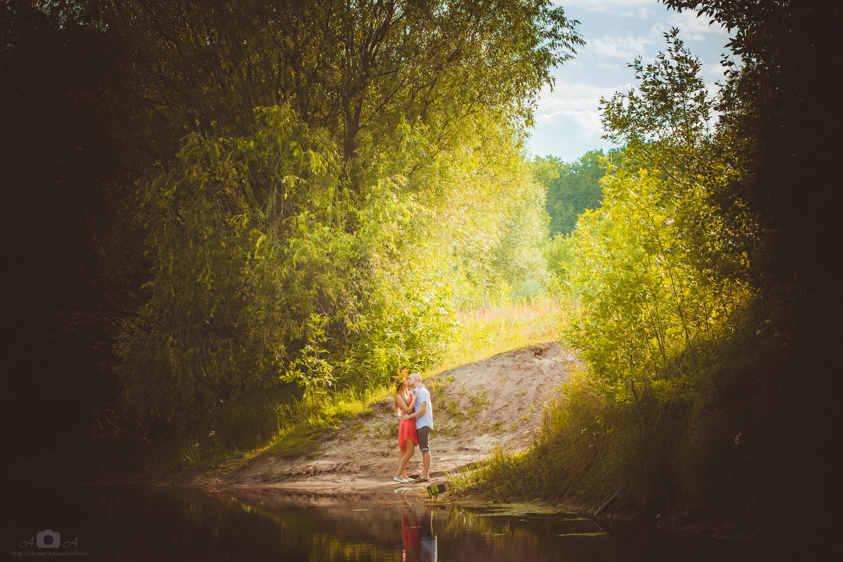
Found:
<svg viewBox="0 0 843 562"><path fill-rule="evenodd" d="M746 290L736 270L747 255L710 195L735 174L723 158L729 147L715 148L715 100L677 35L665 34L655 62L631 64L638 88L603 101L607 136L626 143L627 164L646 168L626 165L603 180L603 206L577 223L566 271L587 311L577 340L621 397L635 383L679 388L671 361Z"/></svg>

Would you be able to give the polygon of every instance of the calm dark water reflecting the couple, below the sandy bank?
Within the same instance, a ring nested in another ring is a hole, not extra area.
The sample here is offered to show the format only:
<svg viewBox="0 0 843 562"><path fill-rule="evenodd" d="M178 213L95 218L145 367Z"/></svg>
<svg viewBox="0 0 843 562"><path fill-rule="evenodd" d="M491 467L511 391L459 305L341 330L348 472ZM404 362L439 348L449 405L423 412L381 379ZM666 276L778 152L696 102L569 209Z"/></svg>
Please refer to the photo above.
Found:
<svg viewBox="0 0 843 562"><path fill-rule="evenodd" d="M14 558L88 560L769 560L769 549L575 515L431 506L384 488L330 498L279 490L208 495L168 487L11 490Z"/></svg>

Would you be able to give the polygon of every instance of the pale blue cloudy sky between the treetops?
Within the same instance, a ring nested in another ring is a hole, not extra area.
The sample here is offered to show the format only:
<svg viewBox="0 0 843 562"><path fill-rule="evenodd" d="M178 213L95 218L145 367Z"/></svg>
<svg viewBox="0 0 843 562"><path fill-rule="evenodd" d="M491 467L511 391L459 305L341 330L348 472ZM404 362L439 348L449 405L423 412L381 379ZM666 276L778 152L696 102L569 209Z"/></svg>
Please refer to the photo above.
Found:
<svg viewBox="0 0 843 562"><path fill-rule="evenodd" d="M626 65L636 56L644 62L667 50L663 34L679 28L679 39L702 63L701 73L711 88L723 80L720 61L729 37L718 24L709 25L695 12L677 13L658 0L557 0L577 26L586 45L572 61L556 67L552 89L545 87L535 111L535 128L527 148L532 156L552 155L573 162L589 150L612 147L600 138L599 101L635 84Z"/></svg>

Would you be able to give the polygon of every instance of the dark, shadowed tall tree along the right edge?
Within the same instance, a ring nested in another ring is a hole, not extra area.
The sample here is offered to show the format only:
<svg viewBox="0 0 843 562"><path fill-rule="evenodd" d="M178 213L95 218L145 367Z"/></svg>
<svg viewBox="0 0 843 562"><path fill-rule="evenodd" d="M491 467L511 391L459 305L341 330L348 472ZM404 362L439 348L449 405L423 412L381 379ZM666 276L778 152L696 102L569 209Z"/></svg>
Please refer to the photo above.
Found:
<svg viewBox="0 0 843 562"><path fill-rule="evenodd" d="M779 437L781 479L818 484L782 497L792 511L812 512L817 521L839 494L824 483L836 478L827 458L835 439L841 390L836 374L843 290L837 206L830 204L840 180L833 166L840 153L843 110L831 102L825 77L840 76L843 61L835 45L841 8L816 0L666 0L698 17L733 30L739 61L724 92L722 122L728 135L744 139L736 161L742 177L722 186L717 201L727 211L741 206L758 223L759 244L751 253L752 282L768 318L788 336L776 346L787 373L780 411L787 428ZM738 201L738 205L730 204ZM726 213L726 216L733 214ZM810 529L815 532L815 529Z"/></svg>

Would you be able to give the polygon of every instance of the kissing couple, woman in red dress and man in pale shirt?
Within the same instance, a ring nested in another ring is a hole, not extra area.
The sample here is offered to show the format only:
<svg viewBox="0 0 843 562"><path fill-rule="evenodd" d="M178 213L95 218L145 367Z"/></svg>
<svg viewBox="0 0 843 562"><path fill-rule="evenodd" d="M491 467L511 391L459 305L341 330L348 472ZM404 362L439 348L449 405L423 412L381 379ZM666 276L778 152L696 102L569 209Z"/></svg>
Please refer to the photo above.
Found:
<svg viewBox="0 0 843 562"><path fill-rule="evenodd" d="M427 482L430 480L430 432L433 429L433 407L430 392L421 384L421 375L417 372L404 377L405 371L395 378L395 415L400 416L398 426L398 448L400 450L398 471L395 482ZM417 479L407 476L407 463L416 445L421 450L421 475Z"/></svg>

